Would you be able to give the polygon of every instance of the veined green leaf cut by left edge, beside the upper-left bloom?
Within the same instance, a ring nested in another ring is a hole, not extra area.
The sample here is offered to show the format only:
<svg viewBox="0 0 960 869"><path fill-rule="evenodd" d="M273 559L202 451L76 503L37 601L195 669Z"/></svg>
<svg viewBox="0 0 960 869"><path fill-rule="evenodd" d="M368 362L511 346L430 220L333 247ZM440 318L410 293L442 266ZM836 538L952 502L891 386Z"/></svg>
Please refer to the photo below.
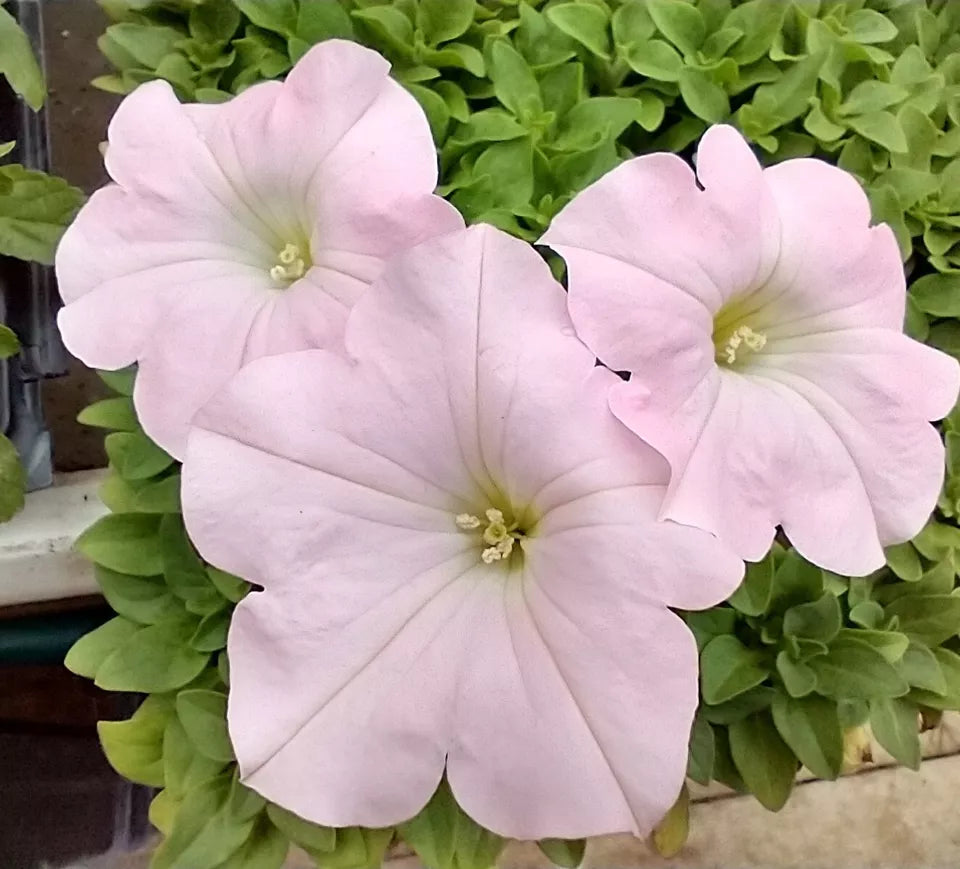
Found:
<svg viewBox="0 0 960 869"><path fill-rule="evenodd" d="M0 185L6 186L0 193L0 254L52 265L83 193L62 178L15 163L0 166Z"/></svg>

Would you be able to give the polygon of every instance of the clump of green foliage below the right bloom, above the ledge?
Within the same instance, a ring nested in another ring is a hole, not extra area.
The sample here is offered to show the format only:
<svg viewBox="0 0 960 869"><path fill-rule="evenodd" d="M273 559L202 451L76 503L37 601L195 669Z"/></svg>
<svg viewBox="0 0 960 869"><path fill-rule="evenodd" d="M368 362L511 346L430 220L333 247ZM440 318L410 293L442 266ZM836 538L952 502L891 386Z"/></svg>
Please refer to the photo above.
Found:
<svg viewBox="0 0 960 869"><path fill-rule="evenodd" d="M888 550L887 567L849 580L776 545L728 603L686 614L703 698L689 775L730 783L716 750L729 746L736 784L776 809L798 764L836 778L845 732L867 721L916 768L921 716L960 708L958 545L958 529L933 521Z"/></svg>

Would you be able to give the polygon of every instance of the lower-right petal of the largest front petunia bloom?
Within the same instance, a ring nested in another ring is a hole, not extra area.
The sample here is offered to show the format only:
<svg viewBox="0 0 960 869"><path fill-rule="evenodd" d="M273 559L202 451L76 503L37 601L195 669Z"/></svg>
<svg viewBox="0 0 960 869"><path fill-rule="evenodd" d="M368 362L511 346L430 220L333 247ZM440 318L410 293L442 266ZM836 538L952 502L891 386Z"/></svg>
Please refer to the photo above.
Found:
<svg viewBox="0 0 960 869"><path fill-rule="evenodd" d="M450 785L502 835L643 834L683 781L696 644L673 613L615 584L591 584L602 621L581 611L582 590L568 609L569 590L551 591L556 569L531 565L526 582L476 593L484 653L458 679Z"/></svg>

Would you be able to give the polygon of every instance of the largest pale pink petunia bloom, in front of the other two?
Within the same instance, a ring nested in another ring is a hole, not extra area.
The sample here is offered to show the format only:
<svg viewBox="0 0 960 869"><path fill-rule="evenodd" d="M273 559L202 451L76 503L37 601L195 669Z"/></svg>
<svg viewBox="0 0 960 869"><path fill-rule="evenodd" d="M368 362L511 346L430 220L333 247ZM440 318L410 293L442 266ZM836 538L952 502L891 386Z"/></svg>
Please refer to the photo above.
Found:
<svg viewBox="0 0 960 869"><path fill-rule="evenodd" d="M655 521L666 463L609 412L615 375L528 245L483 226L421 245L346 347L253 363L189 438L193 539L265 589L230 629L244 780L376 827L446 766L503 835L647 832L697 704L667 607L724 599L742 562Z"/></svg>

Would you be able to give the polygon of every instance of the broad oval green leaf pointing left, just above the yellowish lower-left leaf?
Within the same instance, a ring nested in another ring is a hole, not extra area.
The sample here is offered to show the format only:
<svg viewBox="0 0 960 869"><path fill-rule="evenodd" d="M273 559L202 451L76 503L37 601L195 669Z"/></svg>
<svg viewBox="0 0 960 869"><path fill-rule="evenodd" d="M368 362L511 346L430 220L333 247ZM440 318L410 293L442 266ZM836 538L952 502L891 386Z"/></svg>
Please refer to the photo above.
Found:
<svg viewBox="0 0 960 869"><path fill-rule="evenodd" d="M183 687L200 675L210 657L188 645L195 629L183 618L140 628L100 665L95 684L106 691L143 694Z"/></svg>

